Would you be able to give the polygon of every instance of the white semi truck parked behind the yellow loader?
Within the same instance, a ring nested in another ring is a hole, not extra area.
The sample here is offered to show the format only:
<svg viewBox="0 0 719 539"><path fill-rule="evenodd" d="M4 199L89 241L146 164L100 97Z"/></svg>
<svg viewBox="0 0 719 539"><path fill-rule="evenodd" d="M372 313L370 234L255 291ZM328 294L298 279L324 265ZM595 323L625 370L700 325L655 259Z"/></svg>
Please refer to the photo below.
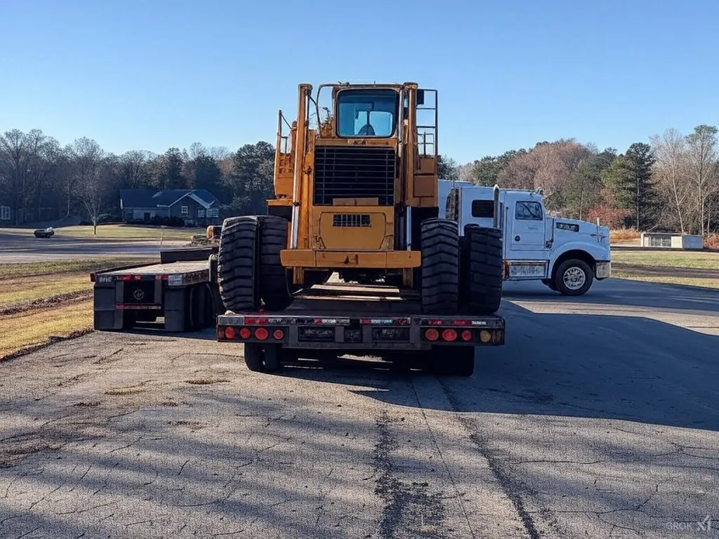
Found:
<svg viewBox="0 0 719 539"><path fill-rule="evenodd" d="M492 227L494 188L439 181L439 212L464 226ZM607 226L551 216L541 191L499 190L503 279L541 280L564 295L582 295L611 274Z"/></svg>

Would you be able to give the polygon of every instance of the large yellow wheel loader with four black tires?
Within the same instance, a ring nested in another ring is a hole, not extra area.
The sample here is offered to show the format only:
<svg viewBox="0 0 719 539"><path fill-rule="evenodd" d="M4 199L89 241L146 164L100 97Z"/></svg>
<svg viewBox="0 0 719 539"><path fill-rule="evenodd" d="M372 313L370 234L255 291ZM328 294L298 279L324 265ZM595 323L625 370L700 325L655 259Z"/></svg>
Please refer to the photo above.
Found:
<svg viewBox="0 0 719 539"><path fill-rule="evenodd" d="M332 83L314 92L300 84L296 119L278 114L267 213L222 225L217 274L226 308L282 311L336 273L394 287L425 315L495 313L499 208L493 227L464 234L438 217L437 135L436 90Z"/></svg>

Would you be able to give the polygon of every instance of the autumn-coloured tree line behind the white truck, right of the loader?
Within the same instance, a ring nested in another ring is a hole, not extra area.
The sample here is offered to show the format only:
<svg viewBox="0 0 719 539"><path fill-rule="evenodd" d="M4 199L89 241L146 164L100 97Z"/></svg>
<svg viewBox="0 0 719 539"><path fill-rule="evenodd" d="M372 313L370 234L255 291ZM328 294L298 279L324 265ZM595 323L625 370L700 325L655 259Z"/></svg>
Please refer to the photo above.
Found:
<svg viewBox="0 0 719 539"><path fill-rule="evenodd" d="M706 234L719 229L717 128L667 129L623 153L575 139L539 142L464 165L441 159L440 177L544 189L546 207L613 228Z"/></svg>

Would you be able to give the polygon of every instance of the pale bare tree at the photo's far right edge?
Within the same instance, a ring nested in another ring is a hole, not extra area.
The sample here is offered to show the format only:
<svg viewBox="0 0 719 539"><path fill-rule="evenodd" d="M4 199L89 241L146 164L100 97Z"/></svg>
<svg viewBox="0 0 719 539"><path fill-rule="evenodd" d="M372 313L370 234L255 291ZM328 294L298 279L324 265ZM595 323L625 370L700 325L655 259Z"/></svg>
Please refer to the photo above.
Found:
<svg viewBox="0 0 719 539"><path fill-rule="evenodd" d="M699 234L702 236L708 217L707 203L719 193L717 132L715 126L700 125L687 136L690 181L694 191Z"/></svg>

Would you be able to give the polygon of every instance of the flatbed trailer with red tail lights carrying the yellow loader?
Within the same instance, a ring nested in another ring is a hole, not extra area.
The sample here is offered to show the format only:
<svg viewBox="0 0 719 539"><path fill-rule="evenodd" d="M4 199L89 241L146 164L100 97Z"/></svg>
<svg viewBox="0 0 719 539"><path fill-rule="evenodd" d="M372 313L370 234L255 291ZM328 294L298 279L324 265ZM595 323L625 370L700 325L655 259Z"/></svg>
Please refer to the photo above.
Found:
<svg viewBox="0 0 719 539"><path fill-rule="evenodd" d="M300 290L280 312L221 314L216 333L218 341L244 344L254 371L349 354L470 376L477 347L504 344L505 321L499 315L423 315L418 297L395 287L336 282Z"/></svg>

